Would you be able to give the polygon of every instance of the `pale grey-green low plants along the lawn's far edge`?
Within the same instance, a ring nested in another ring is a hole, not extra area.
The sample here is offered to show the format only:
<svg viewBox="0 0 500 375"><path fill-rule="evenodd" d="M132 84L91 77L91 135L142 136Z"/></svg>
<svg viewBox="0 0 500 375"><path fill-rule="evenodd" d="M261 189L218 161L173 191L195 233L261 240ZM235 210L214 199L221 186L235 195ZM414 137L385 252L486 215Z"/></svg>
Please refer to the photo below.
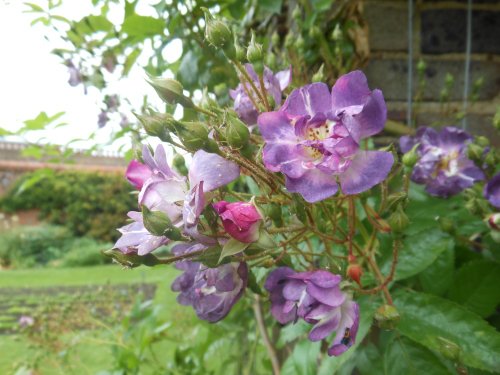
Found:
<svg viewBox="0 0 500 375"><path fill-rule="evenodd" d="M75 238L68 228L61 226L19 227L0 234L0 265L30 268L104 264L108 259L101 250L110 246L92 238Z"/></svg>

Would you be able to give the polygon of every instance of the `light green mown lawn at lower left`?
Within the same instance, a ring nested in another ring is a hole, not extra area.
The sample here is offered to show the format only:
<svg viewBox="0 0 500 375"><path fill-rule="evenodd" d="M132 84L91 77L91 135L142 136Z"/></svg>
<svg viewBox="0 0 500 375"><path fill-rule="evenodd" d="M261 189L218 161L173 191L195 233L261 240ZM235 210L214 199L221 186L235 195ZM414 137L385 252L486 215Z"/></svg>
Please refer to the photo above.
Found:
<svg viewBox="0 0 500 375"><path fill-rule="evenodd" d="M27 270L0 271L0 288L42 288L53 286L88 286L124 283L155 283L157 292L155 302L161 308L161 317L171 320L192 321L194 314L188 308L175 303L175 294L170 291L170 284L177 275L173 267L122 269L118 265L82 267L82 268L45 268ZM1 293L1 291L0 291ZM110 301L111 303L112 301ZM174 307L175 308L170 308ZM181 312L182 310L182 312ZM172 315L173 314L173 315ZM117 322L119 323L119 322ZM187 324L189 325L189 324ZM111 327L110 327L111 328ZM100 370L112 368L110 332L77 331L68 333L65 340L77 340L73 346L72 365L61 367L64 353L49 355L42 360L41 370L45 374L96 374ZM155 348L156 349L156 348ZM157 350L160 353L173 353L175 347L168 341L161 342ZM156 350L155 350L156 351ZM15 369L26 359L33 358L36 350L24 335L0 335L0 374L14 374ZM69 358L69 356L68 356ZM76 359L76 361L75 361Z"/></svg>

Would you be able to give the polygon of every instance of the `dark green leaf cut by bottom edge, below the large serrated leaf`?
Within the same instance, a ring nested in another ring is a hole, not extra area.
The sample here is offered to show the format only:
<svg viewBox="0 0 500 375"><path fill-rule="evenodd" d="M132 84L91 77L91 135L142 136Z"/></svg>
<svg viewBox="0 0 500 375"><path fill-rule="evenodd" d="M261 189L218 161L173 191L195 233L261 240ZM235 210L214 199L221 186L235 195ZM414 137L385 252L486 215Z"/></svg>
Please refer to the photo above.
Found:
<svg viewBox="0 0 500 375"><path fill-rule="evenodd" d="M407 338L395 338L385 352L384 374L421 375L423 372L426 375L453 375L431 351Z"/></svg>

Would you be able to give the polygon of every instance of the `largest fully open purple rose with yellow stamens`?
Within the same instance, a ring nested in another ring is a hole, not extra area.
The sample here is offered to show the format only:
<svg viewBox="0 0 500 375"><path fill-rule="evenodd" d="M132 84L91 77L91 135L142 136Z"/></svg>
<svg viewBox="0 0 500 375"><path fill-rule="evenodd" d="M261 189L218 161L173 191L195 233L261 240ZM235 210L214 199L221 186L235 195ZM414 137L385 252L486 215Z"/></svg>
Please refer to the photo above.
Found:
<svg viewBox="0 0 500 375"><path fill-rule="evenodd" d="M340 77L331 93L324 83L296 89L279 111L258 118L264 164L283 173L287 189L308 202L334 195L338 183L347 195L366 191L394 162L390 152L359 146L383 129L386 112L382 92L370 91L360 71Z"/></svg>

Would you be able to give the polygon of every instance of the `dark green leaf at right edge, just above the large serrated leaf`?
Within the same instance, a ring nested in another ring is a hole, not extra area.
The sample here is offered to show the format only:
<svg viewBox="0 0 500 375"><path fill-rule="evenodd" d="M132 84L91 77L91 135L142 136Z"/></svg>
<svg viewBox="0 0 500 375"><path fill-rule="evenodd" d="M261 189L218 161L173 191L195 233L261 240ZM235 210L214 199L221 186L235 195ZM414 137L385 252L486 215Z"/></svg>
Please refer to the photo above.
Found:
<svg viewBox="0 0 500 375"><path fill-rule="evenodd" d="M499 286L500 264L487 260L472 261L457 271L449 298L487 317L500 303Z"/></svg>

